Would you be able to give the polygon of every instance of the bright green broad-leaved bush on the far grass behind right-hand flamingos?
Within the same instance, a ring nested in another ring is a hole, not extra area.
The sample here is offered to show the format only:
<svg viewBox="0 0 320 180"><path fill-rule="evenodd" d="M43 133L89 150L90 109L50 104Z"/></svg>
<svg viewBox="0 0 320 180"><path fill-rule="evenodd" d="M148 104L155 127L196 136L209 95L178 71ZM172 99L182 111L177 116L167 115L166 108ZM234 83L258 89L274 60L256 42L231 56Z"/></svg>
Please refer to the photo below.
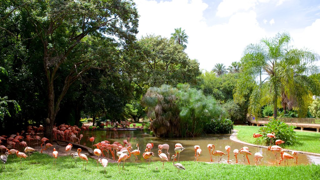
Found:
<svg viewBox="0 0 320 180"><path fill-rule="evenodd" d="M295 126L289 126L281 120L271 119L268 124L260 127L258 133L262 135L256 139L256 143L270 145L270 138L267 137L268 133L274 132L276 138L272 138L272 145L275 145L277 139L281 139L285 144L292 145L297 142Z"/></svg>

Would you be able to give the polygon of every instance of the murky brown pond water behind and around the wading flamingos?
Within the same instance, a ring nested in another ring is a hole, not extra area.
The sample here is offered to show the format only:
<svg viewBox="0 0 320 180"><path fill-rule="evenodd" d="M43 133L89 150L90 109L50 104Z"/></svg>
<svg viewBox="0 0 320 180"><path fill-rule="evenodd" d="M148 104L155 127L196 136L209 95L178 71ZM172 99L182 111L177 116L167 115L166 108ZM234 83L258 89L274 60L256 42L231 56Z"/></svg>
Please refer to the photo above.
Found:
<svg viewBox="0 0 320 180"><path fill-rule="evenodd" d="M158 137L153 137L148 133L144 133L143 131L140 131L140 130L117 131L117 132L118 134L116 134L112 130L111 131L100 130L100 131L94 131L94 132L85 131L83 140L81 140L81 144L84 144L91 148L92 143L89 141L89 138L92 136L95 138L94 144L104 140L108 140L111 143L117 141L122 144L122 141L124 139L127 139L127 137L130 137L130 143L132 144L133 149L136 149L135 148L136 143L138 143L140 146L140 156L138 156L139 161L145 161L142 158L142 153L146 149L147 143L154 144L153 149L151 149L151 151L155 153L155 157L153 158L153 160L160 160L160 158L157 155L159 144L169 144L170 146L169 153L170 153L170 156L172 156L173 154L175 154L174 145L176 143L181 143L183 147L186 148L184 151L181 152L181 155L180 155L180 160L182 161L186 161L186 160L193 161L195 159L194 146L199 145L200 148L202 149L202 153L200 155L200 161L204 161L204 162L210 162L210 155L207 148L208 144L215 145L214 151L219 150L223 152L226 152L225 146L229 145L231 146L229 161L232 164L236 163L236 158L233 155L233 150L234 149L240 150L244 146L243 144L232 142L229 139L230 135L207 135L207 136L198 136L194 138L158 138ZM272 154L271 151L268 151L266 148L259 148L259 147L252 147L252 146L248 146L248 147L249 147L249 151L251 151L253 154L248 156L250 160L250 164L254 165L254 160L253 160L254 153L260 152L263 158L261 159L259 165L268 165L268 166L276 165L276 157ZM291 154L291 152L287 152L287 153ZM238 154L237 157L238 157L238 163L243 163L243 155ZM218 157L212 156L212 158L213 158L213 162L218 162ZM227 158L228 158L227 156L223 157L220 162L227 163ZM280 154L277 155L277 163L279 162L279 159L280 159ZM134 158L132 158L132 161L134 161ZM246 162L246 164L247 163L248 162ZM312 164L312 163L320 164L320 157L299 154L298 164ZM289 160L289 165L294 165L293 159ZM283 162L281 162L281 166L284 166Z"/></svg>

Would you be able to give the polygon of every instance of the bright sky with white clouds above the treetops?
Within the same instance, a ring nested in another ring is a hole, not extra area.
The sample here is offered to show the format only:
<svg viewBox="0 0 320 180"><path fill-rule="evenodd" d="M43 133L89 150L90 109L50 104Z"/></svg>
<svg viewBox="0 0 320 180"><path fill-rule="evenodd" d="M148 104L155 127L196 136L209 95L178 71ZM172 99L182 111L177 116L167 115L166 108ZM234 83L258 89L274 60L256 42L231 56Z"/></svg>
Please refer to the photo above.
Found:
<svg viewBox="0 0 320 180"><path fill-rule="evenodd" d="M185 52L203 71L217 63L228 68L240 61L247 45L284 31L291 47L320 54L319 0L133 1L140 15L137 38L170 38L181 27L189 36Z"/></svg>

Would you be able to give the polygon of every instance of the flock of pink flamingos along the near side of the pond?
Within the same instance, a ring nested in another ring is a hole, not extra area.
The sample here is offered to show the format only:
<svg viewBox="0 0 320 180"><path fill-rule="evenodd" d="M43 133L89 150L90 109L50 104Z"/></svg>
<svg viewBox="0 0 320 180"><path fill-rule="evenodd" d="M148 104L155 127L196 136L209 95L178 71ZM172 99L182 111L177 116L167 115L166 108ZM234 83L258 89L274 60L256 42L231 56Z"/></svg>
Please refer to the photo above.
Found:
<svg viewBox="0 0 320 180"><path fill-rule="evenodd" d="M65 127L66 125L63 125L63 127ZM54 131L57 131L57 130L54 130ZM37 136L36 134L34 133L31 133L31 132L34 132L34 131L28 131L28 135L26 136L26 139L28 141L30 141L31 139L36 139L36 140L40 140L40 137ZM73 133L74 131L71 129L69 132ZM24 133L21 132L21 135ZM30 148L30 147L26 147L27 143L23 141L23 136L19 135L19 133L17 133L16 135L10 135L9 138L6 139L7 136L5 135L1 135L0 136L0 144L2 143L1 140L6 140L8 144L10 144L9 142L14 142L15 141L19 141L20 139L22 139L22 142L20 142L19 144L25 146L25 152L28 152L30 153L31 151L36 151L35 149L33 148ZM73 136L73 134L70 134L70 140L71 140L71 136ZM255 138L259 138L261 137L262 135L260 134L253 134L253 137ZM270 143L271 143L271 138L276 138L275 136L275 133L268 133L267 136L270 138ZM67 136L67 139L68 139L69 136ZM80 135L80 139L81 139L81 135ZM49 147L52 146L51 143L45 143L46 141L48 141L49 139L43 137L41 139L41 142L42 144L40 145L41 146L41 153L43 152L43 150L47 150ZM135 157L135 162L138 160L138 155L140 155L140 150L139 150L139 144L136 144L136 150L133 150L132 146L131 146L131 143L129 142L130 138L128 137L128 139L125 139L123 140L123 144L119 143L119 142L114 142L112 144L110 144L109 141L105 140L105 141L102 141L100 143L97 143L97 144L93 144L94 142L94 137L91 137L90 138L90 141L92 142L92 147L95 146L96 149L93 150L93 153L98 157L97 158L97 165L98 165L98 169L99 169L99 163L103 166L104 168L104 172L106 173L106 167L108 166L108 160L107 159L104 159L104 158L100 158L100 156L102 155L103 157L105 157L105 154L103 153L103 151L106 151L108 153L108 156L109 156L109 152L111 153L112 155L112 159L115 160L115 154L116 156L118 157L118 160L117 160L117 163L118 163L118 168L119 168L119 173L120 173L120 163L121 161L123 161L123 170L124 170L124 163L126 162L126 160L130 159L131 158L131 155L133 155ZM78 140L78 142L80 143L80 140ZM30 143L30 142L29 142ZM295 164L297 165L298 164L298 152L297 151L292 151L292 155L288 154L285 152L285 150L283 148L281 148L280 146L278 146L279 144L281 143L284 143L284 141L282 140L276 140L276 145L272 145L272 146L269 146L268 147L268 150L271 151L275 156L276 156L276 161L277 161L277 154L280 153L281 155L281 160L279 160L279 165L281 163L281 161L284 160L284 164L285 164L285 161L288 160L288 159L295 159ZM12 144L13 147L15 144ZM44 146L42 146L44 145ZM72 149L72 144L69 143L66 148L65 148L65 151L68 152ZM150 160L152 160L152 156L155 155L154 152L151 152L151 149L153 148L153 143L148 143L146 145L146 149L145 149L145 152L142 154L142 157L144 159L146 159L148 161L148 168L150 168ZM231 147L230 146L225 146L225 150L227 153L223 152L223 151L214 151L215 149L215 146L213 144L208 144L207 145L207 148L209 150L209 154L210 154L210 162L213 162L212 160L212 155L213 156L218 156L218 164L220 163L220 160L228 155L228 160L227 160L227 163L230 164L229 162L229 155L230 155L230 151L231 151ZM92 148L93 149L93 148ZM168 152L169 151L169 145L168 144L159 144L158 145L158 156L159 158L161 159L161 161L163 162L163 165L162 165L162 168L164 168L164 161L169 161L168 157L170 157L170 153ZM176 143L175 144L175 147L174 147L174 151L175 151L175 154L172 155L171 159L172 159L172 164L175 168L178 169L178 172L180 170L185 170L185 168L183 167L182 164L180 164L180 153L185 150L186 148L184 148L180 143ZM1 155L0 159L1 161L4 163L3 165L5 165L6 161L7 161L7 158L10 154L16 154L16 156L18 158L20 158L20 168L21 168L21 160L22 158L27 158L28 156L23 153L23 152L19 152L15 149L11 149L9 150L8 148L6 148L4 145L0 145L0 150L1 152L3 150L5 150L6 152L4 154ZM199 161L200 160L200 155L202 153L202 150L200 149L200 146L199 145L195 145L194 146L194 150L195 150L195 160L194 161ZM75 153L71 153L71 157L73 159L75 159L75 164L77 163L77 160L80 159L80 160L83 160L83 167L85 170L86 170L86 166L87 166L87 163L88 163L88 158L85 154L81 153L82 149L81 148L78 148L77 151ZM163 153L162 151L165 151L165 153ZM238 163L238 159L237 159L237 155L240 153L243 155L243 158L244 158L244 164L245 164L245 157L248 161L248 164L250 164L250 161L249 161L249 158L248 158L248 155L252 155L252 152L249 151L249 148L244 146L243 148L241 148L240 150L238 149L235 149L233 150L233 153L234 153L234 156L236 158L236 164ZM30 155L30 154L29 154ZM58 157L58 151L56 151L55 148L53 148L53 152L52 152L52 156L53 156L53 165L55 165L56 163L56 159ZM259 165L259 162L260 160L263 158L263 156L259 153L259 152L256 152L254 154L254 161L255 161L255 165L258 166ZM178 160L177 160L178 159ZM178 163L174 163L175 161L178 161ZM153 160L152 160L153 161ZM84 167L84 163L86 162L86 165ZM288 162L287 162L287 165L288 165ZM3 167L2 167L3 168ZM1 168L1 169L2 169ZM4 167L5 169L5 167ZM157 169L157 167L156 167Z"/></svg>

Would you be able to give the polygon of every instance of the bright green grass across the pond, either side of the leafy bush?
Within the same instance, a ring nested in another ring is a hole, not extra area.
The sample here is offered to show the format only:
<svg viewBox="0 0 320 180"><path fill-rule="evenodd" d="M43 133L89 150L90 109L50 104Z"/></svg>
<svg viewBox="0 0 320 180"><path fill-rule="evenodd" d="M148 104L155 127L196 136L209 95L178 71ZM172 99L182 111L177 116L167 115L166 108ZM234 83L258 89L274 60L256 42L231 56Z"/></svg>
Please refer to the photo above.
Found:
<svg viewBox="0 0 320 180"><path fill-rule="evenodd" d="M257 133L259 127L256 126L235 126L234 129L238 130L237 138L241 141L254 144L255 138L252 137L253 133ZM320 153L319 151L319 138L320 133L313 132L296 132L298 143L288 146L284 143L284 148Z"/></svg>

